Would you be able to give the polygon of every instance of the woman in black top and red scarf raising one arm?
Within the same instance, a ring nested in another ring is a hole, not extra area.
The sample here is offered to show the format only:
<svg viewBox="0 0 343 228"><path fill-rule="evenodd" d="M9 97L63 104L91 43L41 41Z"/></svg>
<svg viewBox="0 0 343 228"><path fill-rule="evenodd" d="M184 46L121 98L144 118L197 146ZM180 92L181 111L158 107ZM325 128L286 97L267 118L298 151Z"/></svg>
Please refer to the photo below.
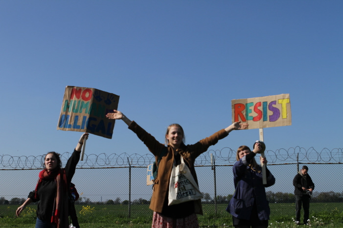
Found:
<svg viewBox="0 0 343 228"><path fill-rule="evenodd" d="M36 189L30 192L27 200L18 207L17 216L32 202L38 202L36 228L69 228L68 193L75 168L80 160L81 147L89 133L84 133L71 154L67 165L62 168L60 154L48 152L43 169L39 173Z"/></svg>

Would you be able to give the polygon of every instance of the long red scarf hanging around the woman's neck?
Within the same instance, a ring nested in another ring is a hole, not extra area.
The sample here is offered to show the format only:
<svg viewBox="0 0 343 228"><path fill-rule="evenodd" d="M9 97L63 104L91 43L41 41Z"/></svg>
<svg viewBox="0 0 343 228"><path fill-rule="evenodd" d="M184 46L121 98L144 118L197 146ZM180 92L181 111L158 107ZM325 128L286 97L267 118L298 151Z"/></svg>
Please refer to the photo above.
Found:
<svg viewBox="0 0 343 228"><path fill-rule="evenodd" d="M38 183L35 189L35 197L37 191L43 180L55 179L56 183L56 196L54 199L54 206L52 209L51 223L56 223L57 228L66 228L68 224L68 187L66 170L54 169L50 172L43 169L38 175Z"/></svg>

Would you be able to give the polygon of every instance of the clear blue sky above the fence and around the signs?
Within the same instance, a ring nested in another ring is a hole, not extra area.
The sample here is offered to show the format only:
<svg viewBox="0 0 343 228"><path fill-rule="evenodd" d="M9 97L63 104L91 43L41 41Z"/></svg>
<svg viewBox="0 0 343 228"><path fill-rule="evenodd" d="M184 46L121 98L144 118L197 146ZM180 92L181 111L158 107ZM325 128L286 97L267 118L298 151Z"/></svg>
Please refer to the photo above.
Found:
<svg viewBox="0 0 343 228"><path fill-rule="evenodd" d="M343 1L0 1L0 155L72 152L57 131L67 85L120 96L118 110L160 142L193 144L231 124L231 100L289 93L292 125L267 149L342 148ZM258 140L235 131L210 149ZM122 121L86 154L146 154Z"/></svg>

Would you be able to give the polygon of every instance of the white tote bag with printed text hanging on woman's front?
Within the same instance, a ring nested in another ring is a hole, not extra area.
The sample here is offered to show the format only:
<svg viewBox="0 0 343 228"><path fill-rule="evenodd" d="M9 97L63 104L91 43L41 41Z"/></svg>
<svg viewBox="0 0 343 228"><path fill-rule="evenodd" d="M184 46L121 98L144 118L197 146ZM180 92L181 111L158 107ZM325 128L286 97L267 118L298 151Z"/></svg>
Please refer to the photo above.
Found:
<svg viewBox="0 0 343 228"><path fill-rule="evenodd" d="M201 198L203 194L181 156L181 164L175 166L174 162L170 175L168 206Z"/></svg>

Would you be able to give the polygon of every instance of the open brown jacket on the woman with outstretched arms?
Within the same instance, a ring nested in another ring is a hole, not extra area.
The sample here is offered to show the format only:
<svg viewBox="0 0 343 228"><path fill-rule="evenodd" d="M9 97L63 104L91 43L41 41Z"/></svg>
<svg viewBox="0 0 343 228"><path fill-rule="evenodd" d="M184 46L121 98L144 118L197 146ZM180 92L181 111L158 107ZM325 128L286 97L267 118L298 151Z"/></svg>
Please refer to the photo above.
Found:
<svg viewBox="0 0 343 228"><path fill-rule="evenodd" d="M129 125L129 129L135 132L138 138L148 147L150 152L155 155L156 162L159 158L164 144L160 144L152 135L147 133L143 128L141 128L136 122L132 122ZM200 140L198 143L193 145L182 145L177 150L182 156L185 163L187 163L195 181L198 184L197 174L194 169L195 159L202 153L206 152L208 147L215 145L218 140L221 140L228 136L228 133L222 129L210 137ZM188 156L187 156L188 155ZM158 176L155 180L153 195L151 197L150 209L153 211L162 212L162 207L166 194L169 191L169 179L171 171L173 168L174 153L173 148L168 145L168 153L165 154L161 160L158 170ZM194 212L197 214L203 214L203 209L201 206L201 200L194 201Z"/></svg>

